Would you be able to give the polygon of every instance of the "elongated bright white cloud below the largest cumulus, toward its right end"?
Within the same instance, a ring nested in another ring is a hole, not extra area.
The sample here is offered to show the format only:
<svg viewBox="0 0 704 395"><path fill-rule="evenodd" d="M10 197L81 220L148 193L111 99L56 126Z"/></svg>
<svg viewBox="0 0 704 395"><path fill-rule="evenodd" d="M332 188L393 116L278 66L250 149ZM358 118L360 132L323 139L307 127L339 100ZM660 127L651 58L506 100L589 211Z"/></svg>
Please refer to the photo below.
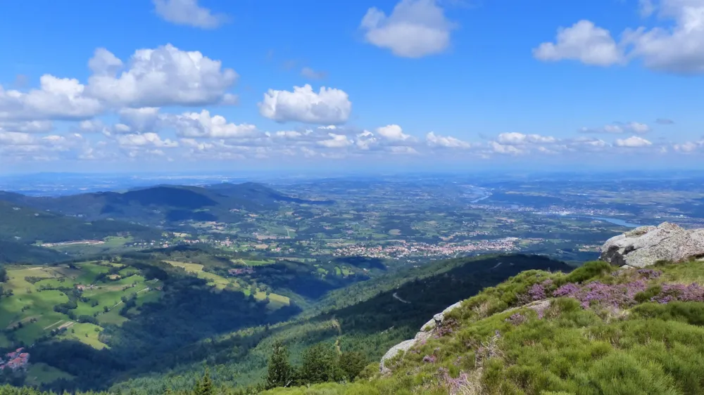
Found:
<svg viewBox="0 0 704 395"><path fill-rule="evenodd" d="M208 110L168 115L164 122L175 127L182 137L246 138L257 133L256 126L252 124L228 123L221 115L210 116Z"/></svg>

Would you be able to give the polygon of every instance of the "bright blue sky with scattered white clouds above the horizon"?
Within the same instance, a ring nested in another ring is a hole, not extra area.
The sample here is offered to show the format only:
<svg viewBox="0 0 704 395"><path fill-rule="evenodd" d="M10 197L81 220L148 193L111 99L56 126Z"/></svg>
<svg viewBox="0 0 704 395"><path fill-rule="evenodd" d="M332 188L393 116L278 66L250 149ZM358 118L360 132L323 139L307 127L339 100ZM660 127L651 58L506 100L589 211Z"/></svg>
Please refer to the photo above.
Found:
<svg viewBox="0 0 704 395"><path fill-rule="evenodd" d="M2 15L0 173L698 168L704 149L704 0L26 0Z"/></svg>

